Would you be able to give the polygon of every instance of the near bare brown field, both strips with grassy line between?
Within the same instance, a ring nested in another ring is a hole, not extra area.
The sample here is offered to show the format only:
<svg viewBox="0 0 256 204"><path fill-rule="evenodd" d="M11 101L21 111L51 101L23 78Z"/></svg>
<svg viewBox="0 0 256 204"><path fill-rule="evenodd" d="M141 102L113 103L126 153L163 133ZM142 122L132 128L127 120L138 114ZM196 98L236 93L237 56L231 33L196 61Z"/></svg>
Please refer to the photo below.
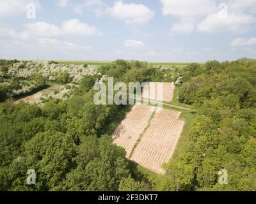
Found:
<svg viewBox="0 0 256 204"><path fill-rule="evenodd" d="M180 112L159 110L154 106L135 105L113 134L114 143L127 152L127 158L152 170L161 168L172 157L182 133L184 121Z"/></svg>

